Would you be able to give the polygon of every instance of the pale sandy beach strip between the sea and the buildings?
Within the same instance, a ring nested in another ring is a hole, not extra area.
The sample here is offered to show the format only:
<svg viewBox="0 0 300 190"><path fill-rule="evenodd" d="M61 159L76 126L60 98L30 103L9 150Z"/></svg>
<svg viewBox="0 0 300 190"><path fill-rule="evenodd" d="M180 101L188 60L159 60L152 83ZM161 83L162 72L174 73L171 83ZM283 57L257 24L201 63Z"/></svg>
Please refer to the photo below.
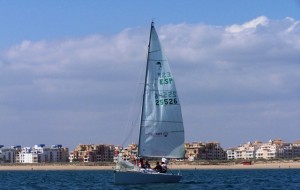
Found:
<svg viewBox="0 0 300 190"><path fill-rule="evenodd" d="M0 164L0 171L55 171L55 170L110 170L113 171L115 165L76 165L76 164ZM180 164L171 163L168 165L171 170L239 170L239 169L300 169L300 162L267 162L243 164Z"/></svg>

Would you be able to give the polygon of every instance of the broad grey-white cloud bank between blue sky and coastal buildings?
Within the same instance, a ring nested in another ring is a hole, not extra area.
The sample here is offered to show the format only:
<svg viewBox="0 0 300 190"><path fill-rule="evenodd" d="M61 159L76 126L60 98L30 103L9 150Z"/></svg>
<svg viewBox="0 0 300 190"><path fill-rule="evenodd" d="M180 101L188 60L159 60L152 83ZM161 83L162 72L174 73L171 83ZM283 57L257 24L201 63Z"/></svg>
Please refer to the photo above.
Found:
<svg viewBox="0 0 300 190"><path fill-rule="evenodd" d="M228 147L300 138L300 21L261 16L157 30L187 141ZM122 144L137 127L148 36L148 28L128 28L113 36L24 40L0 52L0 143Z"/></svg>

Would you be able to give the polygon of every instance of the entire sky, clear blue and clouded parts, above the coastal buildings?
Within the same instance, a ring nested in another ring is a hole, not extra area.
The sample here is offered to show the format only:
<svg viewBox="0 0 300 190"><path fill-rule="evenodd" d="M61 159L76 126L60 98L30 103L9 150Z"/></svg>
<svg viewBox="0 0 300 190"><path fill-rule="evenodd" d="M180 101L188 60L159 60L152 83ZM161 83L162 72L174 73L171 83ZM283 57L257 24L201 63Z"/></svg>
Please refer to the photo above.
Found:
<svg viewBox="0 0 300 190"><path fill-rule="evenodd" d="M124 143L153 18L187 141L300 139L300 1L0 0L0 144Z"/></svg>

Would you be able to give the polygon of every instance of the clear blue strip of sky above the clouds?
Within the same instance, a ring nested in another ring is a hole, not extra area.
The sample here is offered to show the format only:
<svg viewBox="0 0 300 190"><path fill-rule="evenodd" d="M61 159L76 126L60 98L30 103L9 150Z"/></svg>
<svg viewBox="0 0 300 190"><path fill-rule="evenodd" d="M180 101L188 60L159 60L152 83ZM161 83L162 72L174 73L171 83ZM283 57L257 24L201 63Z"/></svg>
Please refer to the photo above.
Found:
<svg viewBox="0 0 300 190"><path fill-rule="evenodd" d="M205 23L241 24L257 16L299 18L300 1L0 1L3 49L22 40L55 40L90 34L116 34L124 28L145 27L155 18L159 25Z"/></svg>

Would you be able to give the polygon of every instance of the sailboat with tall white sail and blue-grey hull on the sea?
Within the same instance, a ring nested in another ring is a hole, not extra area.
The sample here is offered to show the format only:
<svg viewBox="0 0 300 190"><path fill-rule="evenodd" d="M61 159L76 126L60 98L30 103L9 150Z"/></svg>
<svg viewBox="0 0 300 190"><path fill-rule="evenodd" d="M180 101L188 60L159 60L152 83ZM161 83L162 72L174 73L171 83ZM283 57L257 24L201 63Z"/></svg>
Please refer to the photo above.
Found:
<svg viewBox="0 0 300 190"><path fill-rule="evenodd" d="M184 127L175 80L159 37L151 23L140 120L138 157L181 159L185 156ZM176 183L181 175L141 169L118 158L115 184Z"/></svg>

